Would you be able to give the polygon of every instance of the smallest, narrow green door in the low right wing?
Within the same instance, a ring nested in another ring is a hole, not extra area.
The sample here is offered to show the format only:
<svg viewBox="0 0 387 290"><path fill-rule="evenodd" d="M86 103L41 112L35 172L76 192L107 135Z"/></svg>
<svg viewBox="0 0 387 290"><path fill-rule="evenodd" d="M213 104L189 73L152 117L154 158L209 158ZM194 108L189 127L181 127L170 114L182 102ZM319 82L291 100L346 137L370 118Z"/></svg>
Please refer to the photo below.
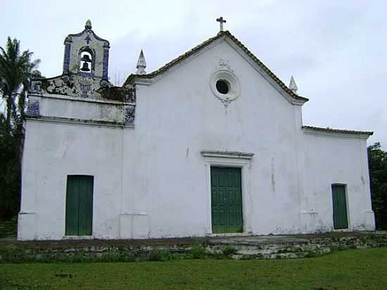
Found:
<svg viewBox="0 0 387 290"><path fill-rule="evenodd" d="M347 198L345 185L332 184L332 201L334 206L334 228L348 229Z"/></svg>

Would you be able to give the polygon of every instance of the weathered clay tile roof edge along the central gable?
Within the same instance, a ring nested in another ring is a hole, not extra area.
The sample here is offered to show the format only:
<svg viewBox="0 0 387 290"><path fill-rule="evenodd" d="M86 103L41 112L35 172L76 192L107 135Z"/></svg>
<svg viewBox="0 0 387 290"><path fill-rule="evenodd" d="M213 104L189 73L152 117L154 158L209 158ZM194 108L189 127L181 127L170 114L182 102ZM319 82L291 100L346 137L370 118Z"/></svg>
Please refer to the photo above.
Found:
<svg viewBox="0 0 387 290"><path fill-rule="evenodd" d="M167 71L168 69L172 68L172 66L176 65L177 63L179 63L180 61L183 61L184 59L186 58L189 58L189 56L193 55L194 53L196 53L197 51L200 51L201 49L203 49L205 46L208 46L209 44L211 44L212 42L215 42L215 40L217 39L220 39L224 36L227 36L229 37L229 39L231 39L237 46L239 46L248 56L250 56L251 59L253 59L253 61L260 66L260 68L262 68L262 70L265 71L265 73L267 73L270 77L272 77L272 79L277 82L277 84L279 84L279 87L281 87L282 89L284 89L284 91L286 93L288 93L293 99L296 99L296 100L302 100L302 101L309 101L309 99L303 97L303 96L298 96L298 94L295 94L291 91L291 89L289 89L286 84L284 84L284 82L282 82L281 80L279 80L279 77L277 77L276 75L274 75L274 73L272 73L271 70L269 70L269 68L267 68L267 66L262 63L262 61L260 61L256 56L254 56L254 54L248 50L248 48L246 46L244 46L238 39L236 39L236 37L234 37L234 35L232 35L228 30L227 31L222 31L222 32L219 32L215 37L211 37L207 40L205 40L205 42L202 42L201 44L199 44L198 46L195 46L193 49L189 50L189 51L186 51L186 53L183 53L181 56L173 59L172 61L170 61L169 63L163 65L161 68L159 68L158 70L154 70L152 73L148 73L146 75L136 75L136 74L132 74L132 75L129 75L129 77L127 77L127 80L125 81L124 83L124 86L127 85L127 84L130 84L132 82L132 80L134 79L151 79L153 77L156 77L162 73L164 73L165 71Z"/></svg>

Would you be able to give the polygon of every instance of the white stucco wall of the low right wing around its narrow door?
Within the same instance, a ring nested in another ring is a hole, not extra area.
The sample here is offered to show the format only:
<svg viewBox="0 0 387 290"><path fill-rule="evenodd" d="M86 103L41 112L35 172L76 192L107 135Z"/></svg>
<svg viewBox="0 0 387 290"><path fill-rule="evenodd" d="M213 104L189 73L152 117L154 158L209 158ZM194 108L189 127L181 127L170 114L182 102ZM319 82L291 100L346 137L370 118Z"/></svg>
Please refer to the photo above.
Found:
<svg viewBox="0 0 387 290"><path fill-rule="evenodd" d="M374 229L365 139L304 134L303 232L333 229L331 184L345 184L349 229ZM309 213L308 213L309 212ZM315 212L315 213L311 213Z"/></svg>

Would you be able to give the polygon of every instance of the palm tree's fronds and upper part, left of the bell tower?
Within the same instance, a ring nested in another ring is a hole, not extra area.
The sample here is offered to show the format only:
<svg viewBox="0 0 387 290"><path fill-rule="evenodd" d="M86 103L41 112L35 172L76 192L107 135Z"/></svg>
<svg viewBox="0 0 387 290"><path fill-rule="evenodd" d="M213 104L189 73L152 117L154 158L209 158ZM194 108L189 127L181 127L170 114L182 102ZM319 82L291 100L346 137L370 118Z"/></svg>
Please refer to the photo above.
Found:
<svg viewBox="0 0 387 290"><path fill-rule="evenodd" d="M32 70L40 63L39 59L31 60L32 54L28 50L20 54L20 42L11 37L8 37L5 49L0 46L0 90L6 101L6 126L10 131L13 122L19 123L16 125L23 122L28 82Z"/></svg>

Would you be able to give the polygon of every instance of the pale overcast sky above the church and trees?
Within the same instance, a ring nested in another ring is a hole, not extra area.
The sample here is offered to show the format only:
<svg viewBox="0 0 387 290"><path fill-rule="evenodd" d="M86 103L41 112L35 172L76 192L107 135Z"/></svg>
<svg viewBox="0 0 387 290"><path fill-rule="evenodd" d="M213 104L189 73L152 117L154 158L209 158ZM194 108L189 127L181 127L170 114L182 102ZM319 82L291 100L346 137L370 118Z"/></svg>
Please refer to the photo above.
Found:
<svg viewBox="0 0 387 290"><path fill-rule="evenodd" d="M89 18L110 41L110 80L147 71L217 34L215 19L282 81L294 75L304 125L372 130L387 149L387 1L5 1L0 46L9 35L34 51L46 77L60 75L63 40Z"/></svg>

